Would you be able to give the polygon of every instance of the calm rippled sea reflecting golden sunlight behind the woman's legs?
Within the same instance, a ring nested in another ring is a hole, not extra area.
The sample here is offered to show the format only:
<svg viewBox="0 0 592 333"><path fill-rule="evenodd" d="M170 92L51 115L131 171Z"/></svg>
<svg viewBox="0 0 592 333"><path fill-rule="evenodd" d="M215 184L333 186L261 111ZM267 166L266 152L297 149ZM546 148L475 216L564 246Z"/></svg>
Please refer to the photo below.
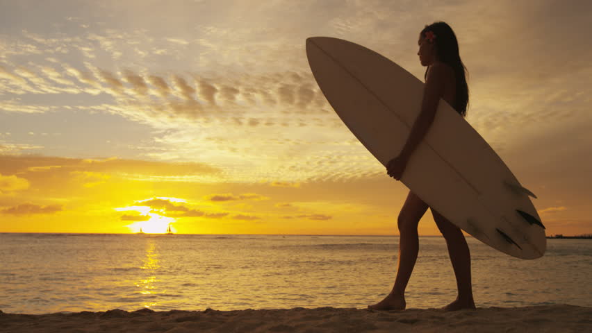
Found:
<svg viewBox="0 0 592 333"><path fill-rule="evenodd" d="M393 287L398 237L0 234L0 309L356 307ZM477 307L592 307L592 241L548 239L522 260L468 237ZM442 307L456 282L442 237L420 237L408 308Z"/></svg>

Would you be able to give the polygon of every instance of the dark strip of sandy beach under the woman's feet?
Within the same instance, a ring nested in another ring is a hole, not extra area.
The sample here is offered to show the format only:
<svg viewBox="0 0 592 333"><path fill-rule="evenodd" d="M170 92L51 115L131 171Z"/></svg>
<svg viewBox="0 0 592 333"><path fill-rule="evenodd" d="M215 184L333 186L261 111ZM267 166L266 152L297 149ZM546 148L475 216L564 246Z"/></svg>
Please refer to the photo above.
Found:
<svg viewBox="0 0 592 333"><path fill-rule="evenodd" d="M245 309L5 314L0 332L592 332L592 308L573 305L441 309Z"/></svg>

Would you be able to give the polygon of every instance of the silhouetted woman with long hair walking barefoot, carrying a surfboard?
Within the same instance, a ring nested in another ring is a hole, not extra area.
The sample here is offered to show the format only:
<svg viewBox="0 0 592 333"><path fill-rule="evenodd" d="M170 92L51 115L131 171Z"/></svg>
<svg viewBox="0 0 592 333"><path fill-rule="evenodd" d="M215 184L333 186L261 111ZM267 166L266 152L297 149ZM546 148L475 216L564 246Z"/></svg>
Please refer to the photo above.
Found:
<svg viewBox="0 0 592 333"><path fill-rule="evenodd" d="M466 116L468 105L466 67L461 61L459 44L452 28L444 22L435 22L425 26L420 32L418 44L421 65L427 67L424 77L424 96L421 112L411 128L411 133L402 152L390 160L386 166L388 176L396 180L401 179L409 157L434 121L438 101L441 98L444 99L463 117ZM428 205L423 200L409 191L397 219L400 240L399 266L395 285L384 300L375 305L369 305L369 309L405 309L405 288L418 257L418 223L427 207ZM434 208L430 207L430 210L438 229L446 240L459 292L457 299L445 306L444 309L475 309L470 278L470 253L466 239L460 228L438 214Z"/></svg>

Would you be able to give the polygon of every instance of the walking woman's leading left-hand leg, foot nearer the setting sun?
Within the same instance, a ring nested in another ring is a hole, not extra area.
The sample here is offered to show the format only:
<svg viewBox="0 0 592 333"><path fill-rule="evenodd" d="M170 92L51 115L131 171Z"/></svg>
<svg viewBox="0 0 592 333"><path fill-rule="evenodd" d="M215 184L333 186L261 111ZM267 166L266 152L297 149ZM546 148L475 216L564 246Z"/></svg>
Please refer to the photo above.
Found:
<svg viewBox="0 0 592 333"><path fill-rule="evenodd" d="M369 309L393 310L405 309L405 288L411 278L413 266L416 264L419 250L418 223L427 210L427 204L418 196L409 191L405 203L399 213L397 224L399 226L399 264L397 278L393 290L388 296L375 305L369 305Z"/></svg>

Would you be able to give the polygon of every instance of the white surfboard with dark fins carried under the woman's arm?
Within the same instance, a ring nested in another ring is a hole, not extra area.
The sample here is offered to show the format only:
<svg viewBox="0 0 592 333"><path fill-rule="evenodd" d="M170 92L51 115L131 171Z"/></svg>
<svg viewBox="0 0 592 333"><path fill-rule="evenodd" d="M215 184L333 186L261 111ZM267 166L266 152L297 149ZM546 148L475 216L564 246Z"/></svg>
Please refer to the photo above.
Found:
<svg viewBox="0 0 592 333"><path fill-rule="evenodd" d="M424 83L395 62L333 37L306 39L322 93L365 148L386 166L421 109ZM489 246L522 259L545 253L545 227L500 156L446 101L401 178L430 207Z"/></svg>

